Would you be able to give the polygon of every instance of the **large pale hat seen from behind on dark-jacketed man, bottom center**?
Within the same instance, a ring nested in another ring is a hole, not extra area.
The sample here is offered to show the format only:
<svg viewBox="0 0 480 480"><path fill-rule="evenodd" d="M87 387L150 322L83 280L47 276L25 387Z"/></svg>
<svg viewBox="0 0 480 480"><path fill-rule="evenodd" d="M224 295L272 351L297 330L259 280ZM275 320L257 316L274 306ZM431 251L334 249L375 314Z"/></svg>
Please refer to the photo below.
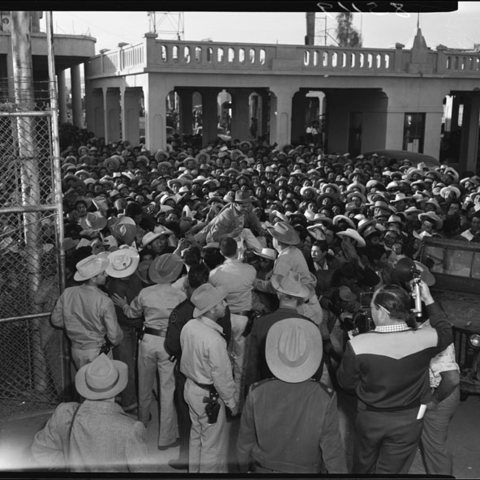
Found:
<svg viewBox="0 0 480 480"><path fill-rule="evenodd" d="M270 327L265 358L279 380L288 383L308 380L320 367L322 356L322 336L313 322L286 318Z"/></svg>

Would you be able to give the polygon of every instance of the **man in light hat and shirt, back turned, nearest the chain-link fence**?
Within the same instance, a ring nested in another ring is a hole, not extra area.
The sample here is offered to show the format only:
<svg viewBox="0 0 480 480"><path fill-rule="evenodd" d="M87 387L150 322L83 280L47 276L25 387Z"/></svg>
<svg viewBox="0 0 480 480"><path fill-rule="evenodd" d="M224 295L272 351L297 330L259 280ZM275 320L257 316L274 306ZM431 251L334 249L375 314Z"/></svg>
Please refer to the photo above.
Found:
<svg viewBox="0 0 480 480"><path fill-rule="evenodd" d="M74 280L82 285L66 288L52 311L52 324L64 328L72 342L77 369L96 358L106 341L118 345L123 338L115 306L99 288L105 285L109 265L110 260L102 255L90 255L77 263Z"/></svg>

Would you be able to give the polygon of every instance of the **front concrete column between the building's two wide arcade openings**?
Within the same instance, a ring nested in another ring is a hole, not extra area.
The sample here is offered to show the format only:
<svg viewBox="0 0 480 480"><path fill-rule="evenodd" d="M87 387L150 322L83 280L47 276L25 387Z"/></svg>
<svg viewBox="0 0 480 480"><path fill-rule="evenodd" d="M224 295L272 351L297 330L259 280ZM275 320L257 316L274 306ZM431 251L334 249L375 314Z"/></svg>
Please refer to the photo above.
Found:
<svg viewBox="0 0 480 480"><path fill-rule="evenodd" d="M296 89L281 86L271 90L275 94L276 105L270 106L270 140L282 148L291 143L292 99Z"/></svg>

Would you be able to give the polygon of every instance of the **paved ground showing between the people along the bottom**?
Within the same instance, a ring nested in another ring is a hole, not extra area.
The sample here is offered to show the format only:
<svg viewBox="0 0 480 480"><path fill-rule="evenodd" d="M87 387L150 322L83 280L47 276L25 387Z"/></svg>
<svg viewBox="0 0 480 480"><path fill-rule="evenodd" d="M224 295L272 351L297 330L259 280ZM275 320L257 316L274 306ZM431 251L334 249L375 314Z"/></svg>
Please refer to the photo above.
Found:
<svg viewBox="0 0 480 480"><path fill-rule="evenodd" d="M148 426L148 472L186 473L168 466L168 460L178 457L179 447L166 451L157 450L158 415L152 408L153 419ZM0 472L36 470L30 456L30 444L37 432L48 420L49 414L17 419L0 424ZM454 455L454 475L457 478L480 478L480 397L469 397L461 402L452 421L449 445ZM229 423L229 460L231 473L234 467L234 443L238 432L238 420ZM417 455L411 474L425 474L420 455ZM1 475L1 473L0 473Z"/></svg>

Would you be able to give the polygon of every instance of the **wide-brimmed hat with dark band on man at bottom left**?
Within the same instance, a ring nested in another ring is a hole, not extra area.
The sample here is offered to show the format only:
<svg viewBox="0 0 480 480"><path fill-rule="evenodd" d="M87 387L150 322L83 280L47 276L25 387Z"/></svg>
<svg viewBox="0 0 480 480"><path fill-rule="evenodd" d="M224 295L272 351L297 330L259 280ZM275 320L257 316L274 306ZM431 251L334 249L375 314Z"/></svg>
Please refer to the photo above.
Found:
<svg viewBox="0 0 480 480"><path fill-rule="evenodd" d="M116 397L125 389L127 382L127 364L110 360L104 353L80 368L75 375L78 393L88 400Z"/></svg>

